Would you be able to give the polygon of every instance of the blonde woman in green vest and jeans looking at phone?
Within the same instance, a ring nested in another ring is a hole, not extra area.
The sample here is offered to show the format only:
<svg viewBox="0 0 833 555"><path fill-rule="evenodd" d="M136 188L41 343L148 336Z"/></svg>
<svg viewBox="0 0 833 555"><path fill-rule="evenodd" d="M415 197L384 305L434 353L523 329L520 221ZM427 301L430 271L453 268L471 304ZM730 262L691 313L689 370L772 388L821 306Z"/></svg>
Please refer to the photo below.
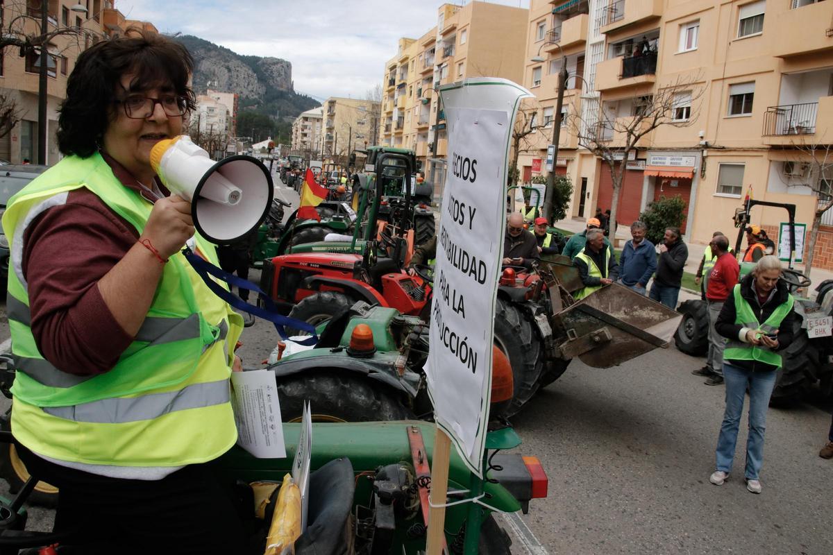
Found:
<svg viewBox="0 0 833 555"><path fill-rule="evenodd" d="M715 329L728 339L723 354L726 411L717 438L716 471L709 481L721 485L731 473L737 430L749 389L749 437L746 440L746 489L761 493L766 410L781 354L792 342L796 315L793 298L781 279L781 260L766 255L726 298Z"/></svg>

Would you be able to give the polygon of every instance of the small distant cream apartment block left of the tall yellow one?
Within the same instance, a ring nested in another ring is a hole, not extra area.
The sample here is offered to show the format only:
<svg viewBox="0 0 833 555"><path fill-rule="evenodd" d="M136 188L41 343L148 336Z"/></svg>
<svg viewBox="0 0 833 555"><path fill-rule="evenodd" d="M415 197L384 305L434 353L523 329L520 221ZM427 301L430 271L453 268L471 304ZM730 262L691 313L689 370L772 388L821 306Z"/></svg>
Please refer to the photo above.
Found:
<svg viewBox="0 0 833 555"><path fill-rule="evenodd" d="M324 156L349 156L372 146L376 139L379 102L329 97L322 106L322 148Z"/></svg>

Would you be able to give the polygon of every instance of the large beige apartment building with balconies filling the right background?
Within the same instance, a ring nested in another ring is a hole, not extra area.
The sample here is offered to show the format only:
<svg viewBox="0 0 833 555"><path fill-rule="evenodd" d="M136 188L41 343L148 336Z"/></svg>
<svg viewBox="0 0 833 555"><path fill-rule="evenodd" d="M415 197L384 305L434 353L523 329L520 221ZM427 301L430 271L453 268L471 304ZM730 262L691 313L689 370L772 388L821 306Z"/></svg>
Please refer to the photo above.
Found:
<svg viewBox="0 0 833 555"><path fill-rule="evenodd" d="M796 204L796 221L809 229L825 200L813 188L833 181L829 162L822 168L806 152L833 142L833 2L532 0L528 30L524 83L536 94L531 111L545 129L519 157L522 176L546 173L541 161L565 57L570 78L562 113L582 122L626 122L651 99L676 91L669 124L643 137L626 161L620 224L653 200L680 195L686 240L706 243L714 230L731 230L735 209L751 192L757 200ZM539 53L545 62L532 62ZM621 146L621 136L603 127L607 144ZM569 124L559 142L556 168L575 187L571 216L609 208L607 166L577 144ZM771 237L786 221L781 209L752 216ZM833 214L824 223L819 248L830 249ZM833 267L833 250L816 255Z"/></svg>

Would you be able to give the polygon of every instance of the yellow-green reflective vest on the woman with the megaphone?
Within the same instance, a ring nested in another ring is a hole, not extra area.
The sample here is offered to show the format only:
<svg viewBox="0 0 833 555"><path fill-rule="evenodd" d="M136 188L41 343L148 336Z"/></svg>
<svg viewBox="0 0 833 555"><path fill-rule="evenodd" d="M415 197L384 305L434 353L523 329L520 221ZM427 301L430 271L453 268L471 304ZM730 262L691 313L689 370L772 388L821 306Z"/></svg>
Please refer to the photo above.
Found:
<svg viewBox="0 0 833 555"><path fill-rule="evenodd" d="M20 265L22 237L33 213L65 203L81 187L137 233L152 209L98 154L67 156L9 201L2 223L15 266L7 309L19 364L12 387L16 439L42 456L85 464L180 466L217 458L237 439L228 378L242 318L181 254L165 265L140 330L109 371L68 374L37 349ZM194 249L217 265L213 246L195 238Z"/></svg>

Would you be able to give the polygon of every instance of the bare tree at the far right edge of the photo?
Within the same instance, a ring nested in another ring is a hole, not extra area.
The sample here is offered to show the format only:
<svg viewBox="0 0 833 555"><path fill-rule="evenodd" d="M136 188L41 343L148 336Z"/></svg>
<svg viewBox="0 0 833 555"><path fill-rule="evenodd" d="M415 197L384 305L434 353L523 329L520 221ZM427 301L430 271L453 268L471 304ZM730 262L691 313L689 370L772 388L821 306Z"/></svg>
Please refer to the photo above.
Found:
<svg viewBox="0 0 833 555"><path fill-rule="evenodd" d="M802 140L792 141L792 147L795 156L791 156L789 163L794 168L801 168L799 173L806 178L798 180L801 183L796 183L792 180L785 180L783 174L780 173L781 181L784 181L788 187L809 187L817 199L816 210L813 211L810 238L807 243L807 257L804 259L804 273L807 277L810 277L810 271L813 267L813 251L816 250L821 217L825 215L826 211L833 208L833 145L816 144Z"/></svg>

